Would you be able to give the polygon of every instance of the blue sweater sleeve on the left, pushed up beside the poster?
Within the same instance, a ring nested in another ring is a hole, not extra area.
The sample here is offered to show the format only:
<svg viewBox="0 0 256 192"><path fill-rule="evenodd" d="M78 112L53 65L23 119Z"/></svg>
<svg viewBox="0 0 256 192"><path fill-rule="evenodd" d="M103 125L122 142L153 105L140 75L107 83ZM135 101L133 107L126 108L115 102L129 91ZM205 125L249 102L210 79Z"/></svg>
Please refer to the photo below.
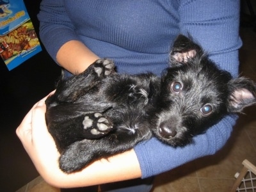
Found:
<svg viewBox="0 0 256 192"><path fill-rule="evenodd" d="M40 21L40 40L54 61L63 44L70 40L79 40L75 27L65 12L63 0L42 0L38 20Z"/></svg>

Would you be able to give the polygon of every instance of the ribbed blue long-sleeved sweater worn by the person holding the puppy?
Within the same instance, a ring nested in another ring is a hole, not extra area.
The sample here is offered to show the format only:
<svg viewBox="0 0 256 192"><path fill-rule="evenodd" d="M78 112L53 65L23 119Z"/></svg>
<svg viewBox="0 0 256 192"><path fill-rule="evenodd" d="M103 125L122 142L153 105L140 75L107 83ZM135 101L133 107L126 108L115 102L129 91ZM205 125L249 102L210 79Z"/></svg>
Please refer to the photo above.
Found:
<svg viewBox="0 0 256 192"><path fill-rule="evenodd" d="M113 59L118 72L160 75L182 33L193 36L221 68L238 74L239 0L43 0L40 9L40 38L55 61L61 45L80 40L100 58ZM214 154L235 122L236 116L227 116L183 148L155 138L139 143L134 150L142 177Z"/></svg>

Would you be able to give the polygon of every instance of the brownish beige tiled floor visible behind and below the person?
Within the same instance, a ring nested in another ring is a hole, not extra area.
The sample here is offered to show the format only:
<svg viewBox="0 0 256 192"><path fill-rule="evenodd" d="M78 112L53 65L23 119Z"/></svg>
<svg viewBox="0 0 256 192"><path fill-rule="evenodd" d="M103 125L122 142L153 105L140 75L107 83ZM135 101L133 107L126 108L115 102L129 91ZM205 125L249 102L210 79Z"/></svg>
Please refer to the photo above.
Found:
<svg viewBox="0 0 256 192"><path fill-rule="evenodd" d="M251 28L241 29L241 72L256 81L256 33ZM156 177L152 192L227 192L234 183L234 174L241 170L242 161L256 164L256 108L246 109L241 115L227 145L211 157L197 159ZM19 192L60 191L37 177Z"/></svg>

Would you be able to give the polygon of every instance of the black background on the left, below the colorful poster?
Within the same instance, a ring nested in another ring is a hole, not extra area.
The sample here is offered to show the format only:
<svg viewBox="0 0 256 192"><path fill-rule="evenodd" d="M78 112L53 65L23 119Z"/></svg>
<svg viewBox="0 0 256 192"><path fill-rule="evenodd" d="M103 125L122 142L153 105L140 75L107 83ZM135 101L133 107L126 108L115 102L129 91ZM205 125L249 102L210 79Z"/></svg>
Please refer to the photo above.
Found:
<svg viewBox="0 0 256 192"><path fill-rule="evenodd" d="M24 0L37 35L39 0ZM42 45L42 44L41 44ZM0 58L0 184L1 191L16 191L38 173L15 134L29 109L54 90L61 68L45 51L8 71Z"/></svg>

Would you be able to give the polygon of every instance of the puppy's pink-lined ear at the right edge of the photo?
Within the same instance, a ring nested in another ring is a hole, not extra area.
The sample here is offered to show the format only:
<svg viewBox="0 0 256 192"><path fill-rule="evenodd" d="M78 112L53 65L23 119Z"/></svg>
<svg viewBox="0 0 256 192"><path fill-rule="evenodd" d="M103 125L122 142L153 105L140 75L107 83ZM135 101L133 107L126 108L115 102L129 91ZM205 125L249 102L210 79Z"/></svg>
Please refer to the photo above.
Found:
<svg viewBox="0 0 256 192"><path fill-rule="evenodd" d="M256 84L250 79L244 77L232 79L228 88L230 89L229 112L241 112L243 108L256 104Z"/></svg>

